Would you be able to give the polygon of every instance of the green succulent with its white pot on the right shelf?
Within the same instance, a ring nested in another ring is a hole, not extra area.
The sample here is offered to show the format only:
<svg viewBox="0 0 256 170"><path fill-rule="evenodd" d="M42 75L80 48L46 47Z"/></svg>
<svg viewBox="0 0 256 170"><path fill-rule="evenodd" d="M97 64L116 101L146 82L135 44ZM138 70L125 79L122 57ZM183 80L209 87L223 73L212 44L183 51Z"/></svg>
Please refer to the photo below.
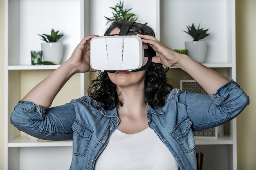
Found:
<svg viewBox="0 0 256 170"><path fill-rule="evenodd" d="M186 26L188 31L184 31L185 33L188 33L193 38L193 41L186 41L185 42L185 49L188 49L188 55L193 60L197 62L204 62L205 53L206 53L206 41L199 41L205 37L207 37L209 34L206 32L208 29L203 30L203 28L199 28L200 24L198 25L198 29L195 28L194 24L192 26Z"/></svg>

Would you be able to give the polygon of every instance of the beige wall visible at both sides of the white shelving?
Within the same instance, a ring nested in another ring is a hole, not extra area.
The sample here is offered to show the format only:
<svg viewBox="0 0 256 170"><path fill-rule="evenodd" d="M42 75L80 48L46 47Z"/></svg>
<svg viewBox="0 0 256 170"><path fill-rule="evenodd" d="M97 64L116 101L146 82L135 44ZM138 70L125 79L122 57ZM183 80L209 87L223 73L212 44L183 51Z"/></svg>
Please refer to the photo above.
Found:
<svg viewBox="0 0 256 170"><path fill-rule="evenodd" d="M256 1L236 0L237 82L250 97L250 105L237 117L238 170L256 169ZM0 170L4 169L4 0L0 0Z"/></svg>

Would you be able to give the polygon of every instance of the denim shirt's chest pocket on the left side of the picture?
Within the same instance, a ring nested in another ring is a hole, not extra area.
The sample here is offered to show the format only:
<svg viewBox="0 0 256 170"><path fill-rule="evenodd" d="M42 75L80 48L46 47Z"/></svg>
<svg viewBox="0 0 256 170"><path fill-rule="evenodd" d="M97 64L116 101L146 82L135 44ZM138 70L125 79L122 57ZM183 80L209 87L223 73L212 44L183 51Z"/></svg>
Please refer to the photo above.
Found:
<svg viewBox="0 0 256 170"><path fill-rule="evenodd" d="M75 120L72 129L74 131L73 155L84 157L88 150L93 130L78 120Z"/></svg>

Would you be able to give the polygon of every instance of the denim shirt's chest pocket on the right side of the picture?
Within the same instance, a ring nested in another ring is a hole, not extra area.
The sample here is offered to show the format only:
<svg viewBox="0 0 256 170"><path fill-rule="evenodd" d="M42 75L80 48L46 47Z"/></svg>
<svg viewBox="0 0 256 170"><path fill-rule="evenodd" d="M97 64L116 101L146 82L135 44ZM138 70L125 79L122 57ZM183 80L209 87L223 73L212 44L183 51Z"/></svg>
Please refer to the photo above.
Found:
<svg viewBox="0 0 256 170"><path fill-rule="evenodd" d="M195 150L195 141L191 125L192 122L190 119L184 117L171 131L171 134L180 144L180 147L185 153L193 152Z"/></svg>

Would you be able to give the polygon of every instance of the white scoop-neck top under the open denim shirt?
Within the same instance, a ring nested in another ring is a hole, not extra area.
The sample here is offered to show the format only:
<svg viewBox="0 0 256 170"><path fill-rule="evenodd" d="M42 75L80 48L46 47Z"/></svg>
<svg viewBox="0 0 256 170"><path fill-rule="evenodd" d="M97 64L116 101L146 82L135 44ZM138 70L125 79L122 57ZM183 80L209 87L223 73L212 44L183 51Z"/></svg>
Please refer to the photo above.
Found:
<svg viewBox="0 0 256 170"><path fill-rule="evenodd" d="M115 130L94 170L179 170L179 167L168 148L148 127L135 134Z"/></svg>

